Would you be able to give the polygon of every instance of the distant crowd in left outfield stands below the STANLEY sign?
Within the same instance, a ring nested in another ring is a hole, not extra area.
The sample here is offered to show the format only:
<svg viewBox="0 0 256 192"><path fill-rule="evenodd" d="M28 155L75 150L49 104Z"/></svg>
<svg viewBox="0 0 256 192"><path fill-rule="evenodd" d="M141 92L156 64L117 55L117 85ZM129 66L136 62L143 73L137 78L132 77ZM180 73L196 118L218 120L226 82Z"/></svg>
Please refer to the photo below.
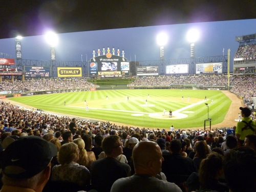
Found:
<svg viewBox="0 0 256 192"><path fill-rule="evenodd" d="M27 90L27 91L48 91L60 89L84 89L97 88L95 84L88 82L87 79L36 79L24 82L15 80L14 82L3 81L0 83L0 90Z"/></svg>

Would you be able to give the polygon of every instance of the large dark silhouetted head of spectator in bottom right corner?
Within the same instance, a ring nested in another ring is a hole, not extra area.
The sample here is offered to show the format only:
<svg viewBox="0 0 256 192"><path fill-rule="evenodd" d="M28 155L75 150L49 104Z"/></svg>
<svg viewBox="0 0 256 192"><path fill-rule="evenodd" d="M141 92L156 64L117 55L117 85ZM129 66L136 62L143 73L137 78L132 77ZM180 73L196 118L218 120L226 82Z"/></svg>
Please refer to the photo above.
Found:
<svg viewBox="0 0 256 192"><path fill-rule="evenodd" d="M223 170L230 192L256 189L256 153L249 147L234 148L225 155Z"/></svg>

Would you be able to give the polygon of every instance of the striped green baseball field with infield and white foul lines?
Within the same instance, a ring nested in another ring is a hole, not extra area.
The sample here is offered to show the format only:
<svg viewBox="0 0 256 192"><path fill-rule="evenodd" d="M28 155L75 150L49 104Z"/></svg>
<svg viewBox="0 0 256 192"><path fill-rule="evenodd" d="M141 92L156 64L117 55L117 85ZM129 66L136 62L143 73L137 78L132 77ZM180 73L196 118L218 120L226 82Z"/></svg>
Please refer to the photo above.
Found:
<svg viewBox="0 0 256 192"><path fill-rule="evenodd" d="M150 98L148 98L150 94ZM130 101L126 101L125 96ZM108 96L108 100L106 100ZM184 100L181 97L184 97ZM189 96L189 101L187 97ZM207 101L204 97L207 96ZM84 100L87 100L89 112L86 112ZM147 99L147 105L145 100ZM214 104L211 103L214 99ZM38 96L11 98L11 100L33 106L35 109L70 114L77 117L96 118L108 121L132 124L135 126L169 128L199 127L204 125L207 119L207 107L209 104L209 118L211 124L223 121L231 100L221 91L208 90L108 90L58 93ZM66 101L66 106L64 106ZM166 109L166 116L162 117ZM186 115L187 117L176 119L169 118L168 111L173 114ZM178 110L178 111L177 111ZM140 115L140 116L134 116ZM151 116L157 116L156 118Z"/></svg>

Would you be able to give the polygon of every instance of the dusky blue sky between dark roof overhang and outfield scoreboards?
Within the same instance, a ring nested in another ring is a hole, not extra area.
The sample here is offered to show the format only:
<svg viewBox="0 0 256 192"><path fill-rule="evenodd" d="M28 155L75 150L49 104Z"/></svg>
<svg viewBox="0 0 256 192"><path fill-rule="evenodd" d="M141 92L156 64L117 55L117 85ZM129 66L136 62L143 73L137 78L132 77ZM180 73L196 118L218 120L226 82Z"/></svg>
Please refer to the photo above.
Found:
<svg viewBox="0 0 256 192"><path fill-rule="evenodd" d="M165 59L189 58L189 42L186 33L196 28L200 38L195 43L196 57L227 55L230 48L230 64L237 51L239 42L236 36L256 33L256 19L231 20L225 22L208 22L194 24L177 24L153 27L137 27L125 29L110 29L58 34L59 42L55 46L56 60L83 61L93 57L93 49L97 56L98 48L114 47L116 52L124 50L127 60L159 60L160 46L156 42L157 34L165 32L168 35L164 46ZM51 29L45 29L45 32ZM0 39L0 52L15 56L14 38ZM45 36L29 36L22 39L23 59L50 60L50 45ZM86 58L87 54L87 58ZM117 54L117 53L116 53ZM0 57L2 57L0 55ZM232 69L232 66L230 66Z"/></svg>

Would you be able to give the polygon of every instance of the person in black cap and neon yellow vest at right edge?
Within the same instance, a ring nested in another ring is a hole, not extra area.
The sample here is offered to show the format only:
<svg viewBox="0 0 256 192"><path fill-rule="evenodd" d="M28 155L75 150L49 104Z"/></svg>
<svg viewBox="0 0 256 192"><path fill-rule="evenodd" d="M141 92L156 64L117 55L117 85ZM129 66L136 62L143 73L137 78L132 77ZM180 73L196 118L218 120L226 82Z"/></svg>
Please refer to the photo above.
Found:
<svg viewBox="0 0 256 192"><path fill-rule="evenodd" d="M255 134L255 121L250 118L251 110L249 108L239 108L241 110L242 121L238 122L236 128L236 136L238 138L239 146L243 146L245 136Z"/></svg>

